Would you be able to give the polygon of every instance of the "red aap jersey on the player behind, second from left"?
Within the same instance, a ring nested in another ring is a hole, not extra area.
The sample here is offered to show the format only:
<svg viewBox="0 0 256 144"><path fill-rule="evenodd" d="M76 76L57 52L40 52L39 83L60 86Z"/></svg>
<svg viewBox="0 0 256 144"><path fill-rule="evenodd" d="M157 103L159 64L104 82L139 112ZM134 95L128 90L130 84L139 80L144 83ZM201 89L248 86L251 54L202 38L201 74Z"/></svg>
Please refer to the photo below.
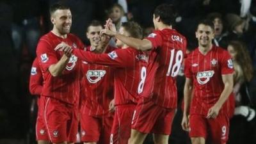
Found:
<svg viewBox="0 0 256 144"><path fill-rule="evenodd" d="M90 46L86 51L93 51ZM106 52L112 51L108 47ZM92 116L109 115L109 103L114 99L113 68L83 61L82 113ZM84 107L86 106L86 108Z"/></svg>

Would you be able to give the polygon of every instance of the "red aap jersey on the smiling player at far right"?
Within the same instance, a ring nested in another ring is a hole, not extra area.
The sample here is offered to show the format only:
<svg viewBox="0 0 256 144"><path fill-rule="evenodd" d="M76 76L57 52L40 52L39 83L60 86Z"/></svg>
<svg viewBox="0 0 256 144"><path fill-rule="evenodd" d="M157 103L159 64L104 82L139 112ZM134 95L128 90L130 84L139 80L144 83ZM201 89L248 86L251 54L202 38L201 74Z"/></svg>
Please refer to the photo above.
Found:
<svg viewBox="0 0 256 144"><path fill-rule="evenodd" d="M198 48L191 52L185 61L185 76L193 80L194 87L190 113L207 116L209 108L220 99L224 89L221 75L233 72L230 55L220 47L212 46L206 55ZM230 102L227 100L223 104L220 114L229 113L232 105Z"/></svg>

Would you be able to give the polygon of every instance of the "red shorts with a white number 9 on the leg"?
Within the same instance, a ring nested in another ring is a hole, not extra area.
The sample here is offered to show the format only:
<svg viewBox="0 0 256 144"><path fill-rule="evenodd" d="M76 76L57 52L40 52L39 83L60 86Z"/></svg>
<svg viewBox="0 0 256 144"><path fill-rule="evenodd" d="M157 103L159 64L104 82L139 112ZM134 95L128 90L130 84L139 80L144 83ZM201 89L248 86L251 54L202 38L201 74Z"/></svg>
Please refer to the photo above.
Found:
<svg viewBox="0 0 256 144"><path fill-rule="evenodd" d="M226 143L229 132L229 118L227 115L218 115L217 118L205 118L203 115L189 116L189 136L209 138L212 143Z"/></svg>

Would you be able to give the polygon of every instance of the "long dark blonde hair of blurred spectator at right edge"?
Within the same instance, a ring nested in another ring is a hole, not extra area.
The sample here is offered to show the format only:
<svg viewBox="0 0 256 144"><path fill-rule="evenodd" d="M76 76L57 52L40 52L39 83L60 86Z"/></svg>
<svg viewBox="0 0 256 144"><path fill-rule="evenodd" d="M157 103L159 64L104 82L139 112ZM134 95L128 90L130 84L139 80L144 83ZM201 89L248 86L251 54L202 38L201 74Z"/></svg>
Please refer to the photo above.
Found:
<svg viewBox="0 0 256 144"><path fill-rule="evenodd" d="M231 45L236 51L235 61L241 67L245 81L250 81L253 77L253 67L250 54L246 45L243 42L231 41L228 45Z"/></svg>

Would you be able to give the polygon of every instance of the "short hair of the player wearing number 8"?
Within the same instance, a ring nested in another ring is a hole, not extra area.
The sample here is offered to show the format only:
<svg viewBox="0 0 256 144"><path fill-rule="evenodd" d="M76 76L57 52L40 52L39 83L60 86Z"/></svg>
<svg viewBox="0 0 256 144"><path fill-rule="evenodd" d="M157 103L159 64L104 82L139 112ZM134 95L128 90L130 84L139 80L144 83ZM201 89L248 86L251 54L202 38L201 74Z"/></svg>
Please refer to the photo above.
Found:
<svg viewBox="0 0 256 144"><path fill-rule="evenodd" d="M134 38L143 38L143 29L137 22L123 22L122 27Z"/></svg>

